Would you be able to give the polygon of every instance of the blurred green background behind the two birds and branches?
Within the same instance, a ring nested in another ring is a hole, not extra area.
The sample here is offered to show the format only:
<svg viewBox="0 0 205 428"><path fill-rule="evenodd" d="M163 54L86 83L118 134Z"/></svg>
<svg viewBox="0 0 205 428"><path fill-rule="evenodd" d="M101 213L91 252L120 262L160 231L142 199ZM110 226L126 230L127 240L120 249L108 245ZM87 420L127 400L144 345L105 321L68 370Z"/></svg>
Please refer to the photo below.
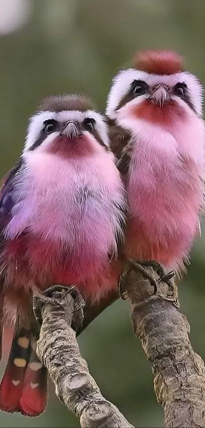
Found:
<svg viewBox="0 0 205 428"><path fill-rule="evenodd" d="M112 75L137 49L177 49L205 83L204 0L0 0L0 172L17 160L28 117L42 97L89 93L100 109ZM193 141L194 144L194 141ZM194 349L205 357L205 226L180 285ZM118 301L79 337L82 355L107 399L135 426L163 426L151 365ZM3 371L3 364L0 367ZM39 418L0 413L0 426L79 426L54 395Z"/></svg>

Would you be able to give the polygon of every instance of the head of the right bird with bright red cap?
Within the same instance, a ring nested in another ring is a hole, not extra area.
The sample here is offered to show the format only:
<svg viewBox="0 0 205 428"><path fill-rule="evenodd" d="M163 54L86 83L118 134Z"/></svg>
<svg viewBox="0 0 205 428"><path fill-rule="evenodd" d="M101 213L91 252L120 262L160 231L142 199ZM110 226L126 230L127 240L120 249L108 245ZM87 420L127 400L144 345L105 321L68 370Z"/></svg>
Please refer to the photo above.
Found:
<svg viewBox="0 0 205 428"><path fill-rule="evenodd" d="M111 119L140 118L158 124L202 116L203 88L183 69L183 59L171 51L139 53L133 68L113 79L106 114Z"/></svg>

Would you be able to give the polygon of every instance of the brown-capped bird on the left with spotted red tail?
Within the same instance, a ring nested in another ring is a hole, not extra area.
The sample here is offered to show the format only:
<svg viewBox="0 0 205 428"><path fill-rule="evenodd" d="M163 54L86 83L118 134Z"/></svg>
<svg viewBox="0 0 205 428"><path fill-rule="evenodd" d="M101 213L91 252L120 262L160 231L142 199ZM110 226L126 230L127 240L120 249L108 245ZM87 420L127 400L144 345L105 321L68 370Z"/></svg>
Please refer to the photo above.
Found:
<svg viewBox="0 0 205 428"><path fill-rule="evenodd" d="M104 115L86 95L46 97L0 190L0 342L3 326L14 326L1 410L38 416L46 407L33 293L74 284L97 305L116 292L108 278L125 221L126 192Z"/></svg>

